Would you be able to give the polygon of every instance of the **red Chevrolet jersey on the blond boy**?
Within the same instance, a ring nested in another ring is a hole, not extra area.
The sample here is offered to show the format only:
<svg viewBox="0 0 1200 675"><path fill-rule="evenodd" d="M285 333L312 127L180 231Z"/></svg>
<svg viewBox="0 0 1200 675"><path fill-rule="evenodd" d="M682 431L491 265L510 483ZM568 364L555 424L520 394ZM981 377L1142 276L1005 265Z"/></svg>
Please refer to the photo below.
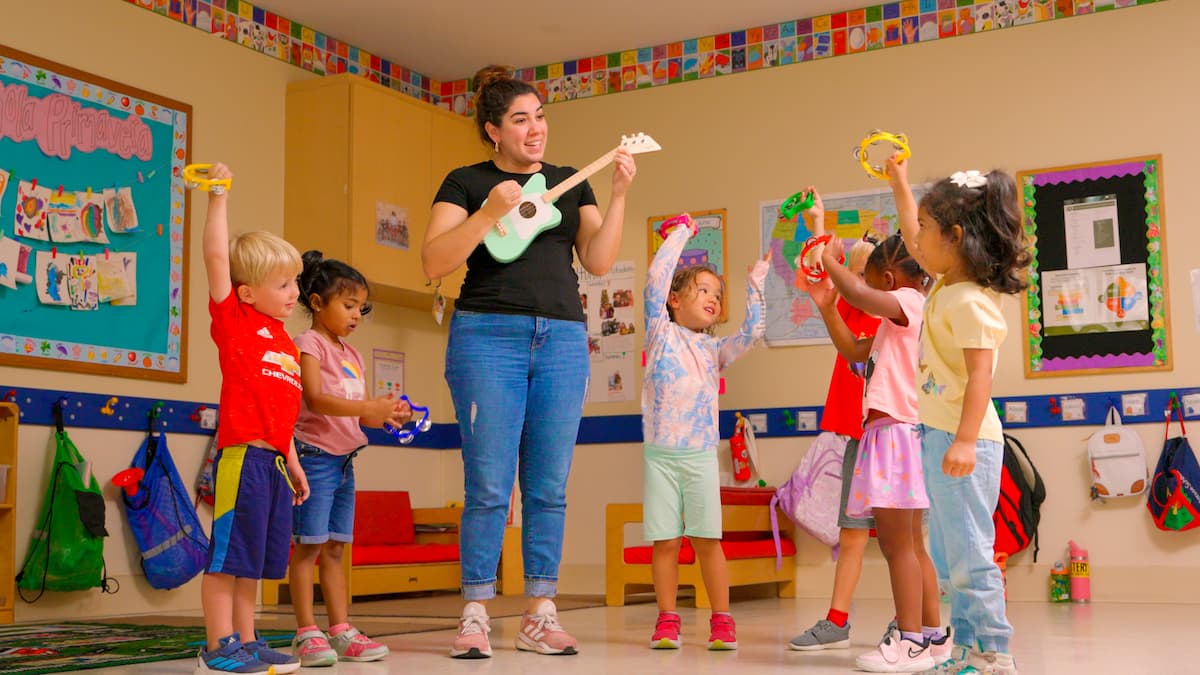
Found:
<svg viewBox="0 0 1200 675"><path fill-rule="evenodd" d="M217 447L263 440L287 456L300 414L300 352L283 322L238 300L209 298L221 362Z"/></svg>

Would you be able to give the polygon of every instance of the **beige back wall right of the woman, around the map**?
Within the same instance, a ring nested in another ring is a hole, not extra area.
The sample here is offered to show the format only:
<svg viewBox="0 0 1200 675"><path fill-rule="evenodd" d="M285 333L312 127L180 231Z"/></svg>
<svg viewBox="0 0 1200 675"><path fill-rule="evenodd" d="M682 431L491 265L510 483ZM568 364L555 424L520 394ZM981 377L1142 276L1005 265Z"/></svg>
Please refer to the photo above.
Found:
<svg viewBox="0 0 1200 675"><path fill-rule="evenodd" d="M1188 74L1196 49L1188 26L1200 4L1164 2L1130 11L1057 20L978 36L886 49L821 62L653 88L548 107L551 156L583 165L620 133L646 131L664 150L638 156L622 258L646 270L646 217L682 210L728 209L728 268L744 270L758 255L760 201L784 198L812 183L827 193L884 187L851 157L871 129L905 131L913 145L913 179L992 167L1010 172L1162 153L1169 249L1175 370L1123 376L1026 380L1021 366L1019 303L1006 310L1009 339L1001 352L996 395L1195 387L1200 356L1189 348L1188 273L1200 267L1200 235L1189 216L1200 204L1193 132L1200 94ZM606 202L608 173L593 178ZM744 279L731 274L732 317L743 311ZM727 328L728 329L728 328ZM724 410L822 405L832 347L758 350L726 372ZM589 407L589 414L636 413L636 402ZM1162 426L1136 426L1150 461ZM1183 583L1200 565L1192 534L1157 532L1141 500L1087 501L1085 437L1093 429L1016 431L1049 484L1042 508L1037 567L1014 561L1010 596L1044 598L1048 567L1067 539L1091 551L1099 599L1200 601ZM808 438L760 438L764 477L784 480ZM568 509L564 585L600 590L602 506L640 501L635 444L581 448ZM814 543L802 557L802 592L826 597L833 566ZM863 592L887 595L882 558L864 575ZM590 569L593 575L586 575ZM1160 580L1146 584L1144 580Z"/></svg>

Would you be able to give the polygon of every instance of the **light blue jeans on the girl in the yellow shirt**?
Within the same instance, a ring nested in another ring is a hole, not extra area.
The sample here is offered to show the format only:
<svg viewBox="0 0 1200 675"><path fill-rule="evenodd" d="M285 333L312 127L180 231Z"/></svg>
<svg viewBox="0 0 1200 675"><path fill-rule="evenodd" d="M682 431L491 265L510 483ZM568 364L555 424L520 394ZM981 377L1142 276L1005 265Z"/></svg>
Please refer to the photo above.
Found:
<svg viewBox="0 0 1200 675"><path fill-rule="evenodd" d="M929 492L930 557L937 580L950 597L954 644L982 651L1008 651L1004 581L992 556L996 527L992 513L1000 498L1004 448L996 441L976 442L970 476L950 478L942 459L954 434L920 425L922 465Z"/></svg>

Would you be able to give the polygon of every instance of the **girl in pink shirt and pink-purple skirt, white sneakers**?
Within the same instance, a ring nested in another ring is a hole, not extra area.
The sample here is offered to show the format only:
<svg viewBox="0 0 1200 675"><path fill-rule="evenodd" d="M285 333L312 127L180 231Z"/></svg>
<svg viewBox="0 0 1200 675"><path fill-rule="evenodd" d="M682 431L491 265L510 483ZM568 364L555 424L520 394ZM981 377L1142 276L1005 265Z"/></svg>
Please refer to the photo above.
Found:
<svg viewBox="0 0 1200 675"><path fill-rule="evenodd" d="M820 197L814 208L822 208ZM870 673L916 673L934 668L935 652L941 657L949 651L938 628L936 583L924 589L926 580L936 579L932 563L923 543L917 543L923 542L923 512L929 508L916 388L928 276L899 234L880 243L862 276L840 264L836 251L826 246L821 258L832 286L816 286L810 293L838 351L846 360L866 362L864 431L846 515L875 518L896 609L896 627L856 663ZM834 288L851 305L882 319L874 338L858 339L850 333L834 310Z"/></svg>

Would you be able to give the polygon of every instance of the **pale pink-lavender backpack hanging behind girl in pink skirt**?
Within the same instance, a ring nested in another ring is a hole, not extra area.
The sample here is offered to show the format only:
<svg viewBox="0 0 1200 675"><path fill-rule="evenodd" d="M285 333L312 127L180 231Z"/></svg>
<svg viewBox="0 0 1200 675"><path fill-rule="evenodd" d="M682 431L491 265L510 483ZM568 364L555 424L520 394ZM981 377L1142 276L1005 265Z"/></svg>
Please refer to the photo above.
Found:
<svg viewBox="0 0 1200 675"><path fill-rule="evenodd" d="M802 530L838 551L838 507L841 502L841 462L846 443L836 434L823 431L812 441L792 477L775 490L774 504ZM778 527L776 527L778 530ZM779 534L776 533L776 537ZM778 546L776 546L778 548Z"/></svg>

